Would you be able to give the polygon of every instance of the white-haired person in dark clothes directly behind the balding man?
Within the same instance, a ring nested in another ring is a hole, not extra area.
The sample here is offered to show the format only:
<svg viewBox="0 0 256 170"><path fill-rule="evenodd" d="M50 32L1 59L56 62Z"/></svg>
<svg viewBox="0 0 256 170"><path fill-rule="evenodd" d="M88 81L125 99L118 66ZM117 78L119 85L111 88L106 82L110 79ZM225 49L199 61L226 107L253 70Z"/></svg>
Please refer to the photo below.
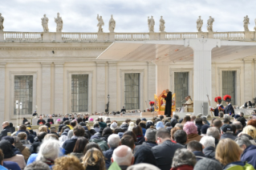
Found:
<svg viewBox="0 0 256 170"><path fill-rule="evenodd" d="M107 127L106 127L107 128ZM105 164L106 168L108 169L111 164L111 157L114 152L114 150L120 145L120 137L116 134L112 134L108 137L108 147L109 149L107 151L104 151L104 157L106 158Z"/></svg>

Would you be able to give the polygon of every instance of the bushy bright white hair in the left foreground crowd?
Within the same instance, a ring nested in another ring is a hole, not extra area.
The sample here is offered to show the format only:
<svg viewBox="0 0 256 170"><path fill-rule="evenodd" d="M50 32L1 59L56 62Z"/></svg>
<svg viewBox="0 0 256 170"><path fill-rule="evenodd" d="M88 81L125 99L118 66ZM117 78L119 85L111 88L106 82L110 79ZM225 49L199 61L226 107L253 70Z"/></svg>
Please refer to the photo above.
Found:
<svg viewBox="0 0 256 170"><path fill-rule="evenodd" d="M58 140L43 140L43 144L41 144L39 148L39 155L36 157L37 160L45 161L47 159L49 160L55 160L60 156L60 146Z"/></svg>

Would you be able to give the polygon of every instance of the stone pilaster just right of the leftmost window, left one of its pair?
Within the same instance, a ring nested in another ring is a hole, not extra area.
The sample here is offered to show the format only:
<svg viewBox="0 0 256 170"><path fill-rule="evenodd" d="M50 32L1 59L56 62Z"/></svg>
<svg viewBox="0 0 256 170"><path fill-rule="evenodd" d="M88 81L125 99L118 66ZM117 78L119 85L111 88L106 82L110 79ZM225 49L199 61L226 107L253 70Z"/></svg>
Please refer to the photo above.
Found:
<svg viewBox="0 0 256 170"><path fill-rule="evenodd" d="M41 63L42 65L42 94L41 113L39 115L51 114L51 63Z"/></svg>

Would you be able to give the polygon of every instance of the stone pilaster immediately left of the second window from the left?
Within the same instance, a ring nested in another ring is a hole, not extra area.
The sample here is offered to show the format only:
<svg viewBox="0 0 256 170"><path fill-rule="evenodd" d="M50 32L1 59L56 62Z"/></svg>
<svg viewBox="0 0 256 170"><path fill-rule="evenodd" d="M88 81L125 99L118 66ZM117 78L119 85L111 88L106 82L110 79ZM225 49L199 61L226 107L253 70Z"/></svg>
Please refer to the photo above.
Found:
<svg viewBox="0 0 256 170"><path fill-rule="evenodd" d="M63 65L55 63L55 114L63 114Z"/></svg>

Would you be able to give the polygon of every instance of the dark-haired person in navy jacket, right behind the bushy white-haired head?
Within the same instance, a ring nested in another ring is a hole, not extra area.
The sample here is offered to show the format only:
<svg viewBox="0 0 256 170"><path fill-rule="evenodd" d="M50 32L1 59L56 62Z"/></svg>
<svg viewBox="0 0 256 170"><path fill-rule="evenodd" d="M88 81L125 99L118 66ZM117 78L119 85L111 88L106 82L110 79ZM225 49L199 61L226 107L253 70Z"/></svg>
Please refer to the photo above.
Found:
<svg viewBox="0 0 256 170"><path fill-rule="evenodd" d="M73 149L75 148L76 140L79 138L79 136L84 136L84 128L78 124L73 129L73 133L74 133L74 136L71 137L71 140L66 140L63 143L63 149L65 149L66 155L73 152Z"/></svg>

